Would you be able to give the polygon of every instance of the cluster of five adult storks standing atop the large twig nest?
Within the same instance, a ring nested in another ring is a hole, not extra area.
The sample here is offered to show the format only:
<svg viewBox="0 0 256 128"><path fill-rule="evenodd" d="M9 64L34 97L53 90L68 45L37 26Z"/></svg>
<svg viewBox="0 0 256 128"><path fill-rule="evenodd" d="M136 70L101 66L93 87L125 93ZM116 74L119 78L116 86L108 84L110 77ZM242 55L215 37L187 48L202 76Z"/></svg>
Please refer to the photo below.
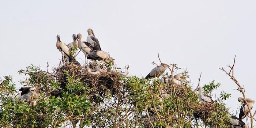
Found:
<svg viewBox="0 0 256 128"><path fill-rule="evenodd" d="M111 62L114 67L114 59L109 57L109 54L101 50L99 45L99 40L95 37L92 29L88 29L88 36L86 41L82 41L82 34L73 34L73 42L68 45L60 40L60 35L57 35L56 47L62 54L62 61L65 65L66 63L74 63L81 66L78 61L75 60L74 53L72 49L79 48L85 56L85 63L87 64L87 59L104 61L105 63Z"/></svg>

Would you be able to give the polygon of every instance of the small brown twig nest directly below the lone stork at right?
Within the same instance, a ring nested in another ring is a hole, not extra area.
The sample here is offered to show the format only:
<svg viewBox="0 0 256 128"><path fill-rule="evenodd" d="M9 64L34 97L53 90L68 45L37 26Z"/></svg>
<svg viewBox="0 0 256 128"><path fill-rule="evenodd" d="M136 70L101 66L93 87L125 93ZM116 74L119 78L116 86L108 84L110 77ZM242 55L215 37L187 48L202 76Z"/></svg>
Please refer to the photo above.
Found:
<svg viewBox="0 0 256 128"><path fill-rule="evenodd" d="M214 102L211 103L201 103L195 108L195 112L193 113L195 118L200 118L205 121L207 118L211 118L211 112L216 111L216 107Z"/></svg>

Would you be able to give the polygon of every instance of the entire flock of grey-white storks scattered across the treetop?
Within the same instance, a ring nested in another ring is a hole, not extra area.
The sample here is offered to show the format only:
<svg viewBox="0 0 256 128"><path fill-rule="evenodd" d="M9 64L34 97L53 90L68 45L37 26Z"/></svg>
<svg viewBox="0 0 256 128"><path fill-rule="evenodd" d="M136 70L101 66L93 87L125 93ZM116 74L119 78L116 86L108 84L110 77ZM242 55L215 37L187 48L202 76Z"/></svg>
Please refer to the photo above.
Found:
<svg viewBox="0 0 256 128"><path fill-rule="evenodd" d="M57 35L57 42L56 42L56 47L62 54L62 62L64 66L69 63L74 63L78 66L81 66L78 61L75 60L73 49L74 48L79 48L85 56L85 62L87 64L87 59L89 60L98 60L98 61L104 61L105 63L112 63L112 66L114 67L114 59L112 57L109 57L109 54L103 50L101 50L101 46L99 45L98 39L95 37L94 32L92 29L88 29L88 36L86 41L82 41L82 34L73 34L73 42L69 43L66 45L64 42L60 40L60 35ZM99 73L100 71L105 71L104 66L102 64L102 68L100 67L95 67L94 62L92 64L87 64L86 66L87 72L95 72ZM167 68L170 68L168 64L161 63L161 65L155 67L150 71L150 73L145 77L145 79L151 79L151 78L159 78L162 76L162 74L166 71ZM51 76L48 72L41 72L47 76ZM162 77L160 80L162 82L165 82L166 84L176 84L176 85L181 85L182 81L185 79L185 74L179 73L177 75L173 76L173 79L171 78L171 75L168 77ZM163 98L168 98L169 94L166 93L166 91L161 87L161 97ZM21 93L15 96L14 101L18 99L18 101L25 101L29 105L32 103L35 104L35 100L39 98L41 95L40 89L37 87L30 87L30 86L24 86L19 89ZM196 89L196 91L199 91L199 101L202 102L214 102L211 98L211 96L202 94L202 87L199 87ZM33 99L33 100L31 100ZM248 106L245 104L245 100L242 97L238 98L238 101L242 103L241 109L240 109L240 114L239 118L236 116L230 115L230 124L231 128L248 128L248 125L245 124L242 119L246 117L249 113L249 109L252 109L253 104L255 101L250 98L246 98L246 101L248 102ZM160 111L159 106L156 108L158 111Z"/></svg>

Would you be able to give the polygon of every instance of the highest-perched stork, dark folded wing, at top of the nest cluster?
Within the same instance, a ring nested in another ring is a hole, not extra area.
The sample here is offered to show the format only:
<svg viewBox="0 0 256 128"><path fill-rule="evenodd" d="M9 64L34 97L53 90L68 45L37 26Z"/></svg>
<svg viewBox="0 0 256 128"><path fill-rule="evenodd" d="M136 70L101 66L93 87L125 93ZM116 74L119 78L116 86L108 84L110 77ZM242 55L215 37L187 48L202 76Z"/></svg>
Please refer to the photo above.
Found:
<svg viewBox="0 0 256 128"><path fill-rule="evenodd" d="M94 50L101 50L101 46L99 45L99 41L95 37L93 30L88 29L87 32L88 32L88 36L87 36L86 41L91 44L91 46L93 47Z"/></svg>

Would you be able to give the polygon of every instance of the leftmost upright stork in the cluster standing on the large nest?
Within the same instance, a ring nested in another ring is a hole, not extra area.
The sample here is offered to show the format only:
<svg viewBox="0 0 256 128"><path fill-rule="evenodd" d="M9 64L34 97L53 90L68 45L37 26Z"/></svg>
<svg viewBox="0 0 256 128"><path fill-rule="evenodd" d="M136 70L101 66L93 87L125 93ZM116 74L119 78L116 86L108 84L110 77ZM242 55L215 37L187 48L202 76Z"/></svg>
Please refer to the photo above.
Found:
<svg viewBox="0 0 256 128"><path fill-rule="evenodd" d="M70 56L68 46L65 43L60 41L60 35L57 35L56 47L62 54L63 64L65 65L66 61L71 62L72 58Z"/></svg>

